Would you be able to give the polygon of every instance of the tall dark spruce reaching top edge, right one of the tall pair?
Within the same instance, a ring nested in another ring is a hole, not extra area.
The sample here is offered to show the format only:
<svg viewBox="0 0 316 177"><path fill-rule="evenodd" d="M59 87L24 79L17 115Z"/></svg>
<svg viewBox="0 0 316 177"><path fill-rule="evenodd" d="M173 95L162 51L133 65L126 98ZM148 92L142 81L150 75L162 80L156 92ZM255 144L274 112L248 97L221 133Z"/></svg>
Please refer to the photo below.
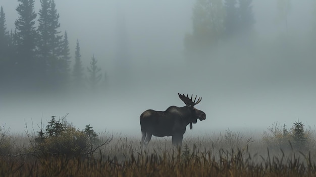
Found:
<svg viewBox="0 0 316 177"><path fill-rule="evenodd" d="M56 4L51 0L40 0L39 10L39 41L38 53L40 56L41 74L47 86L59 87L64 82L64 70L61 68L63 41L60 35L59 14Z"/></svg>

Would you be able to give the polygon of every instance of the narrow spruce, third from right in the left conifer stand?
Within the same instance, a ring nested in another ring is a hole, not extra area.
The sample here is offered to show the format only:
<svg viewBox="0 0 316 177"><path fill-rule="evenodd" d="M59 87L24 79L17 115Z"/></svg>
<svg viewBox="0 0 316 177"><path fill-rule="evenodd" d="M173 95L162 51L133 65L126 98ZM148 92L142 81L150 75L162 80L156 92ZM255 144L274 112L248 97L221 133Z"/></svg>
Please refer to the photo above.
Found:
<svg viewBox="0 0 316 177"><path fill-rule="evenodd" d="M70 72L70 52L69 52L69 42L68 42L68 35L65 31L64 39L61 45L61 57L60 57L60 71L62 74L62 81L65 84L69 81L69 72Z"/></svg>

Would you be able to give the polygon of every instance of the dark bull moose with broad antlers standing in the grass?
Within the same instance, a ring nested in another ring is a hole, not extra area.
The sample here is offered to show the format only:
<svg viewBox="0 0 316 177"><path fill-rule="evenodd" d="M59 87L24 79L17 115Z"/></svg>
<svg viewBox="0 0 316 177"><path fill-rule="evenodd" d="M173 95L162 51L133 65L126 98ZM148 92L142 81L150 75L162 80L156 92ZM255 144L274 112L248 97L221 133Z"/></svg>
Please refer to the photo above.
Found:
<svg viewBox="0 0 316 177"><path fill-rule="evenodd" d="M148 109L140 115L142 145L147 145L153 135L156 137L172 136L172 144L181 146L186 126L190 124L190 129L192 129L192 123L195 124L197 119L205 120L205 113L194 107L202 100L202 97L195 102L197 95L194 101L192 100L193 94L191 98L188 94L185 96L178 93L178 95L186 106L170 106L165 111Z"/></svg>

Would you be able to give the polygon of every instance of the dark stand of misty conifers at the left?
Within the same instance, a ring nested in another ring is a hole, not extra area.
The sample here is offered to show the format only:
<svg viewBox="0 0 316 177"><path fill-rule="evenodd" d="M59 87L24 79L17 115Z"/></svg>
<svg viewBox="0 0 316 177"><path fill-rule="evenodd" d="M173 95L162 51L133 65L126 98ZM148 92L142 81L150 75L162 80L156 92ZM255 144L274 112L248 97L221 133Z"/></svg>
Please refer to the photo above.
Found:
<svg viewBox="0 0 316 177"><path fill-rule="evenodd" d="M87 68L90 76L84 77L79 40L71 67L68 34L59 30L55 1L40 0L38 13L34 11L34 0L18 2L14 31L7 30L3 7L0 11L0 88L63 90L70 85L82 87L85 80L95 88L102 77L101 69L93 55Z"/></svg>

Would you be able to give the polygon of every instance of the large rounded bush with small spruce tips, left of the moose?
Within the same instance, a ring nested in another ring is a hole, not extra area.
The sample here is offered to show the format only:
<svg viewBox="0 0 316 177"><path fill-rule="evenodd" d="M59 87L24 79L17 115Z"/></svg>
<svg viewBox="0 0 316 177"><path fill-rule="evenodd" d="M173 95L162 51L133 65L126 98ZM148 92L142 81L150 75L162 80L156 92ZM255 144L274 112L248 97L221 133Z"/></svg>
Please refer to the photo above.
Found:
<svg viewBox="0 0 316 177"><path fill-rule="evenodd" d="M88 155L99 145L97 137L90 125L80 131L67 122L66 116L59 120L56 120L56 116L51 116L46 129L41 128L37 132L32 150L71 157Z"/></svg>

